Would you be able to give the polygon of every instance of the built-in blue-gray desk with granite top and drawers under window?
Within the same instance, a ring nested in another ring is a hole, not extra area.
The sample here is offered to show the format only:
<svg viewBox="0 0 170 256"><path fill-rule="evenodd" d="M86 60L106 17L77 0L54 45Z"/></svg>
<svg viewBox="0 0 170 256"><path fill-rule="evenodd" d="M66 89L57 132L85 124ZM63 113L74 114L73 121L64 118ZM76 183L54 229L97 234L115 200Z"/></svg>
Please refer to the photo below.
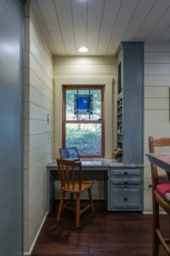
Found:
<svg viewBox="0 0 170 256"><path fill-rule="evenodd" d="M56 160L48 162L48 212L54 203ZM82 172L105 171L108 211L143 210L143 166L110 159L82 159Z"/></svg>

